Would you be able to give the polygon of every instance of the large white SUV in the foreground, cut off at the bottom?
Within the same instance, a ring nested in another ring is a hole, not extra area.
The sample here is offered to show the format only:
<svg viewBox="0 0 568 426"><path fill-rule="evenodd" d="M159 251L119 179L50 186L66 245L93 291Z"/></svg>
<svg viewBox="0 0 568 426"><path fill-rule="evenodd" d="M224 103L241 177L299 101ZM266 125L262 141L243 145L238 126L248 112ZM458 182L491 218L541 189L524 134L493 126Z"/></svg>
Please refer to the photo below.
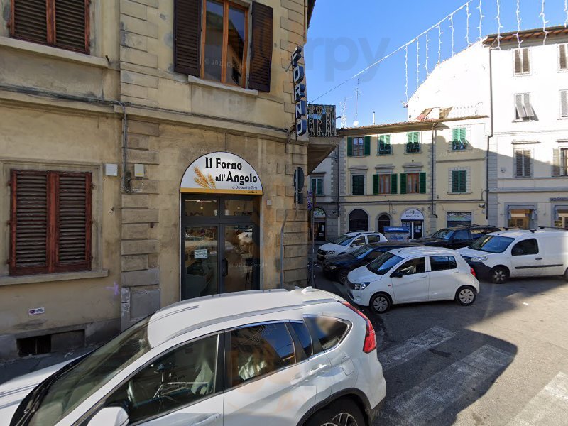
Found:
<svg viewBox="0 0 568 426"><path fill-rule="evenodd" d="M0 386L0 425L371 425L371 322L321 290L171 305L87 356Z"/></svg>

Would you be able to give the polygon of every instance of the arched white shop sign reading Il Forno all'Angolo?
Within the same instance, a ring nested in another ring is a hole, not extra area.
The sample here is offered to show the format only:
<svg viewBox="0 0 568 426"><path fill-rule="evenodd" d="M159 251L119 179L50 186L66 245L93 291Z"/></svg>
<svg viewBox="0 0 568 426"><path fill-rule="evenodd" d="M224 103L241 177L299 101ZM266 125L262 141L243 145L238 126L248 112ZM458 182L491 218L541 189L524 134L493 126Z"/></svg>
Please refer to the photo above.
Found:
<svg viewBox="0 0 568 426"><path fill-rule="evenodd" d="M261 195L261 178L238 155L210 153L197 158L185 170L180 192Z"/></svg>

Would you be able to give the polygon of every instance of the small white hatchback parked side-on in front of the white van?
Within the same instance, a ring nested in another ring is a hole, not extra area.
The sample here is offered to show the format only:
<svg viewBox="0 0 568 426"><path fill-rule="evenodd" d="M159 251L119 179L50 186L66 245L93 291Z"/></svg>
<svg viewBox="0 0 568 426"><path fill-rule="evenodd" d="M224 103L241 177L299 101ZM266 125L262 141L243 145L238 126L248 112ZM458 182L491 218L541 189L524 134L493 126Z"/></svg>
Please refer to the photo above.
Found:
<svg viewBox="0 0 568 426"><path fill-rule="evenodd" d="M471 305L479 293L474 270L457 251L410 247L383 253L347 275L347 293L357 305L381 314L391 305L453 300Z"/></svg>

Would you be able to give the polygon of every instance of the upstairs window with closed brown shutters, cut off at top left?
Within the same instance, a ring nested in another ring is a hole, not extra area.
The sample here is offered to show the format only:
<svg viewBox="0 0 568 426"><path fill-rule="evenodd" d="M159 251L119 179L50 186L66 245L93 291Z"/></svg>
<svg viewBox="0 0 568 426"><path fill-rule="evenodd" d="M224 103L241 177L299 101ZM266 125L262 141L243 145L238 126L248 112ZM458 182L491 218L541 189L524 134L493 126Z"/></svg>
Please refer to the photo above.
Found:
<svg viewBox="0 0 568 426"><path fill-rule="evenodd" d="M10 34L89 53L89 0L13 0Z"/></svg>

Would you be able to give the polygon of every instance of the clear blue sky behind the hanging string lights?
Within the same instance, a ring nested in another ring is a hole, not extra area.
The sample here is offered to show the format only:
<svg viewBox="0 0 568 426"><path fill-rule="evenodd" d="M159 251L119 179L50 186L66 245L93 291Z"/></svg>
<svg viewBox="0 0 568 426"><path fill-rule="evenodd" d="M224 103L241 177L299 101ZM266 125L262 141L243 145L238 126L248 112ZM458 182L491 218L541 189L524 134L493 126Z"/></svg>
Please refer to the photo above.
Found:
<svg viewBox="0 0 568 426"><path fill-rule="evenodd" d="M407 110L403 107L406 92L408 90L408 97L411 97L417 80L425 79L426 64L431 72L438 56L441 60L452 57L452 28L446 17L465 3L466 0L317 0L305 45L308 102L334 104L337 116L340 116L342 108L339 104L346 99L347 126L353 126L359 80L359 126L373 124L373 111L377 124L407 120ZM479 3L480 0L469 2L471 42L479 39ZM481 21L481 34L498 32L498 6L503 26L501 32L516 31L517 3L521 29L542 28L543 3L547 26L567 22L565 0L481 0L481 11L485 16ZM455 53L467 47L466 11L464 7L453 16ZM436 24L444 18L440 23L440 36ZM435 28L418 39L418 55L417 43L412 43L408 46L408 61L405 61L405 49L402 49L363 75L351 79L431 26ZM442 38L441 48L439 37ZM408 66L408 89L405 63ZM346 80L349 81L325 94ZM337 126L340 126L339 120Z"/></svg>

